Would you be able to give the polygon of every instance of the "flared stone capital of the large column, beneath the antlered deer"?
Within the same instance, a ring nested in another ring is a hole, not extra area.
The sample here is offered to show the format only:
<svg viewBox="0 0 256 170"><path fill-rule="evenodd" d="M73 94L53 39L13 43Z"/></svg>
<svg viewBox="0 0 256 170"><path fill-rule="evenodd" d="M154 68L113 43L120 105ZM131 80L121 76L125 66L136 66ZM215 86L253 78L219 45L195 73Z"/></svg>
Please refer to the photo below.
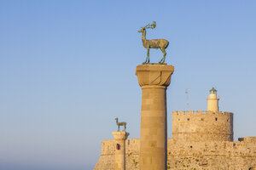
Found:
<svg viewBox="0 0 256 170"><path fill-rule="evenodd" d="M168 87L171 82L174 66L172 65L137 65L136 75L138 83L144 86L164 86Z"/></svg>

